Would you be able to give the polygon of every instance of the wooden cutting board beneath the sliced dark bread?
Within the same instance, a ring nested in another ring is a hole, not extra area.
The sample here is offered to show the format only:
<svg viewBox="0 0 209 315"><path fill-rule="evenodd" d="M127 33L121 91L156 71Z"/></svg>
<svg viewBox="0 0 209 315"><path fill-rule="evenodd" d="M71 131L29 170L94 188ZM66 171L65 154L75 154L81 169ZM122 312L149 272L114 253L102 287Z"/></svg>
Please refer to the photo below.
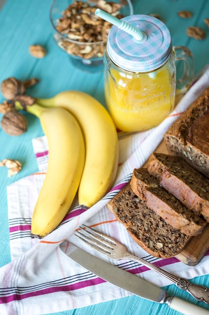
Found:
<svg viewBox="0 0 209 315"><path fill-rule="evenodd" d="M156 152L166 153L167 149L165 147L164 141L160 143L160 145L155 150ZM144 167L146 166L146 163ZM111 201L108 204L108 209L112 210ZM181 253L176 255L175 257L180 260L182 263L195 266L198 262L204 257L204 255L209 251L209 224L205 226L203 231L192 237L190 241L187 243L186 247L183 249Z"/></svg>

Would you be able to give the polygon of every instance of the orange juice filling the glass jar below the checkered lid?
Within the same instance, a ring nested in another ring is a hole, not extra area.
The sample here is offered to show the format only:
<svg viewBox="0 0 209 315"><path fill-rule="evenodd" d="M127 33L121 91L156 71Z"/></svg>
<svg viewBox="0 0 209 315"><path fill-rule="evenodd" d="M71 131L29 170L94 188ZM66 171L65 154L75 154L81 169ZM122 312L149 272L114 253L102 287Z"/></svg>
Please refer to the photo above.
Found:
<svg viewBox="0 0 209 315"><path fill-rule="evenodd" d="M166 63L148 73L123 71L113 64L105 70L105 98L116 127L142 131L160 124L173 110L175 68Z"/></svg>

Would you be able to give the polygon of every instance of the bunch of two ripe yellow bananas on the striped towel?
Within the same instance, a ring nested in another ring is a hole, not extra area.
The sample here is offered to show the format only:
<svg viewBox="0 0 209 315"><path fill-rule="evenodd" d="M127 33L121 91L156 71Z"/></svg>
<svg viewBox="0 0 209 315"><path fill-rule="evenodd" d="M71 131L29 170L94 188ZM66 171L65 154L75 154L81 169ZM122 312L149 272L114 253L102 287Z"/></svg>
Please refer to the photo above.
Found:
<svg viewBox="0 0 209 315"><path fill-rule="evenodd" d="M33 217L32 235L42 238L65 217L78 191L89 208L112 187L118 168L118 137L107 110L79 91L36 99L26 110L40 118L49 164ZM15 102L16 109L23 109Z"/></svg>

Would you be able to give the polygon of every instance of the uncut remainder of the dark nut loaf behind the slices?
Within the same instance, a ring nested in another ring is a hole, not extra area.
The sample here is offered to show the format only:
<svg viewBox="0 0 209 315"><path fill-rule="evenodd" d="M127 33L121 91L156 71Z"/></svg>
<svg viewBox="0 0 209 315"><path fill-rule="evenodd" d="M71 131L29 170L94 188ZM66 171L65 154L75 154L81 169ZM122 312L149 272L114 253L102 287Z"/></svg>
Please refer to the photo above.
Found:
<svg viewBox="0 0 209 315"><path fill-rule="evenodd" d="M209 178L209 87L164 135L168 153L185 160Z"/></svg>

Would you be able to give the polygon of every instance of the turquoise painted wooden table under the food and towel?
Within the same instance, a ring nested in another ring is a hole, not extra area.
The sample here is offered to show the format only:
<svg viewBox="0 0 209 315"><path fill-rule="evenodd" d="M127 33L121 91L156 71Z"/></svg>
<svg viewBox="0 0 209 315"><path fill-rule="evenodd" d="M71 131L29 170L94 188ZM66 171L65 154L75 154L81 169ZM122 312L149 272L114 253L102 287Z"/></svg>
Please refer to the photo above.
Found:
<svg viewBox="0 0 209 315"><path fill-rule="evenodd" d="M75 68L67 54L56 46L49 19L51 3L52 0L6 1L0 11L0 82L10 76L20 80L37 77L40 82L30 88L32 96L48 98L64 90L80 90L92 95L105 106L103 73L88 73ZM209 63L209 28L203 21L204 18L209 18L208 0L133 0L132 3L135 14L158 14L171 32L173 45L187 46L192 51L195 74ZM177 12L180 10L191 11L192 17L179 18ZM188 26L202 28L205 39L197 41L187 37L185 30ZM29 46L32 44L43 45L47 55L43 59L32 57L29 54ZM3 96L0 95L0 103L3 100ZM26 117L29 128L22 136L9 136L0 129L0 160L9 157L23 164L22 171L11 178L7 177L6 168L0 168L0 267L11 261L7 186L38 171L31 140L43 135L43 131L36 117L30 114L26 114ZM209 287L209 275L198 277L195 282ZM187 293L180 291L174 285L167 286L165 289L170 294L193 301ZM203 304L202 307L209 310L209 305ZM177 315L176 311L170 310L166 305L158 305L137 296L61 311L57 314L99 315L102 313Z"/></svg>

